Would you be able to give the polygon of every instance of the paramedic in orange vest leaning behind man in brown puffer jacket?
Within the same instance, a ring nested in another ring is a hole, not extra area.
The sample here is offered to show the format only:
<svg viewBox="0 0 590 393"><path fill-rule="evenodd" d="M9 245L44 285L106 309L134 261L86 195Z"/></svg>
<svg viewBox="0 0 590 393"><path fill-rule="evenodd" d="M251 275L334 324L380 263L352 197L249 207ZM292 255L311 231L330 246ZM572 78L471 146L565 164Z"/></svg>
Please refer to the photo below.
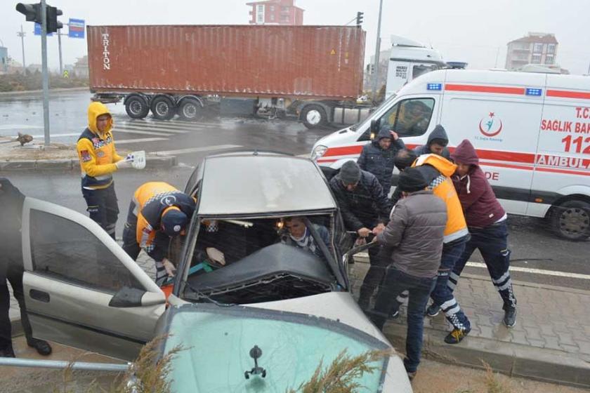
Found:
<svg viewBox="0 0 590 393"><path fill-rule="evenodd" d="M400 171L409 166L418 168L426 182L428 182L428 189L431 189L433 194L442 199L447 205L447 224L442 241L440 267L438 268L435 287L431 293L433 302L426 309L426 315L434 317L442 309L447 321L453 327L452 332L445 337L445 342L447 344L457 344L471 331L471 323L463 310L461 310L461 307L459 307L457 299L454 298L450 288L452 283L449 283L450 273L457 260L461 258L470 238L463 215L463 208L451 180L457 166L438 154L417 156L415 152L408 149L398 152L395 156L395 166ZM398 298L398 302L402 302L402 298ZM396 309L393 307L393 314L395 314L395 311Z"/></svg>

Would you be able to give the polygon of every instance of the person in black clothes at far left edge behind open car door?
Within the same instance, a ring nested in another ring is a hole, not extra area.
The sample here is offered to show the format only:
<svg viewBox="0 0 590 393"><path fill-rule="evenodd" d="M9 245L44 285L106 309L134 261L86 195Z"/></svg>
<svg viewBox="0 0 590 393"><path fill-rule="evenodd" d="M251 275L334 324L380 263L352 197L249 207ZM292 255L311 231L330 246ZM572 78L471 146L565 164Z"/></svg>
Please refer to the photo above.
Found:
<svg viewBox="0 0 590 393"><path fill-rule="evenodd" d="M22 204L25 202L18 188L6 178L0 178L0 357L14 357L11 320L8 316L10 293L6 280L11 283L14 297L20 307L20 321L27 344L42 355L51 354L51 346L44 340L33 338L31 324L25 309L22 288Z"/></svg>

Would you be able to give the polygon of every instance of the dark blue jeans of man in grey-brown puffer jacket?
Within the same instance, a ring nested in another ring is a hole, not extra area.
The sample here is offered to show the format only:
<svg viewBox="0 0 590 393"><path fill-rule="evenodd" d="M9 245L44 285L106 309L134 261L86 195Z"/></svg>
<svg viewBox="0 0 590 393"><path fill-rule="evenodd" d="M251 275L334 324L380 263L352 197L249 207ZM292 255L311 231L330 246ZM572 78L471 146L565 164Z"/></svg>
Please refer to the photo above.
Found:
<svg viewBox="0 0 590 393"><path fill-rule="evenodd" d="M391 310L393 307L398 307L395 298L403 291L409 292L406 357L404 359L404 366L409 373L416 371L420 364L422 334L424 333L424 309L434 285L435 278L414 277L391 266L387 269L384 284L377 295L375 308L369 312L369 317L374 324L379 330L383 330Z"/></svg>

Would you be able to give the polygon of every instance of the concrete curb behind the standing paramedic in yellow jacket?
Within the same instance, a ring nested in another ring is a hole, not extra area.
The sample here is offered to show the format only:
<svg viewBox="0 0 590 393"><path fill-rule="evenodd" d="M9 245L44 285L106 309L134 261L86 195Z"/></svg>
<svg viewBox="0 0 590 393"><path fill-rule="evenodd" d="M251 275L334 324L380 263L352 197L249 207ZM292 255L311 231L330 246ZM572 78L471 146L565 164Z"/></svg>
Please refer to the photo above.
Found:
<svg viewBox="0 0 590 393"><path fill-rule="evenodd" d="M78 164L78 159L0 161L0 171L70 170L78 168ZM176 156L147 156L145 158L145 167L148 169L171 168L177 164Z"/></svg>

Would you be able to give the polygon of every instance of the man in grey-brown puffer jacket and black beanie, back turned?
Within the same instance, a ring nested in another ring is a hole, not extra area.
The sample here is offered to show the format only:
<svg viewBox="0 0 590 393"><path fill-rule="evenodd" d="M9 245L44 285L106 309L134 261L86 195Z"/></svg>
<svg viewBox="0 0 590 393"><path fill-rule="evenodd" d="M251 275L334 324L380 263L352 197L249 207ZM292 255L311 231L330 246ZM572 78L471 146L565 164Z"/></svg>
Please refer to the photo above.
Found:
<svg viewBox="0 0 590 393"><path fill-rule="evenodd" d="M368 314L383 330L391 310L398 307L395 298L409 291L404 366L410 380L420 363L424 309L435 286L447 223L445 202L427 187L417 168L403 171L398 180L402 199L391 211L387 227L374 229L374 241L388 251L389 267L375 307Z"/></svg>

